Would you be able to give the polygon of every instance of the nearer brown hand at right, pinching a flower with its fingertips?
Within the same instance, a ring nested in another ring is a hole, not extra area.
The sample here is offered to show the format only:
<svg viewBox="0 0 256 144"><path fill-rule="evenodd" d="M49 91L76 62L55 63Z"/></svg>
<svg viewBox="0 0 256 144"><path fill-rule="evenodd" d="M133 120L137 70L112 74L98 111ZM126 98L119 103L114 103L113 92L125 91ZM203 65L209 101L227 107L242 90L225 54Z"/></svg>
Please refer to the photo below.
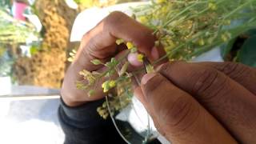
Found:
<svg viewBox="0 0 256 144"><path fill-rule="evenodd" d="M256 70L234 62L174 62L135 90L174 143L256 143Z"/></svg>

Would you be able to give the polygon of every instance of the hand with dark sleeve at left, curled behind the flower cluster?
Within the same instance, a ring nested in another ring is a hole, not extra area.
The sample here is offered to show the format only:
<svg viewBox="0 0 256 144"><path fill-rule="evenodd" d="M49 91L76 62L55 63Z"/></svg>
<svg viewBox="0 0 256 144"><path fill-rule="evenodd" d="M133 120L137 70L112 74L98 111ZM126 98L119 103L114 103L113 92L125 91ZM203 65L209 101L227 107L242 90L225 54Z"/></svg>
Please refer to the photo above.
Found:
<svg viewBox="0 0 256 144"><path fill-rule="evenodd" d="M78 74L79 71L101 71L104 69L103 66L93 65L91 60L97 58L102 62L107 62L112 57L124 54L123 46L117 46L115 43L117 38L133 42L138 50L146 54L151 61L157 59L158 50L154 48L155 38L152 32L126 14L113 12L99 22L94 29L86 33L62 83L61 95L66 105L78 106L104 97L101 88L102 82L98 82L98 85L94 87L96 92L92 97L88 97L85 90L78 90L75 83L82 80L82 76ZM130 56L131 64L138 65L138 62L134 62L134 57Z"/></svg>

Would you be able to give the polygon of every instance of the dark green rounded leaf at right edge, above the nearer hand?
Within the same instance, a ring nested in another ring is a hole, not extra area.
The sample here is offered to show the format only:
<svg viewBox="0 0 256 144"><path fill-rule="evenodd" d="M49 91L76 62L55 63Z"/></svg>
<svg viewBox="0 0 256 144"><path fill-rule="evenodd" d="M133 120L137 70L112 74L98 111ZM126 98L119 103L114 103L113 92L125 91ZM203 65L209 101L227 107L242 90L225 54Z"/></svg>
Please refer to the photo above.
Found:
<svg viewBox="0 0 256 144"><path fill-rule="evenodd" d="M238 62L256 67L256 35L244 42L238 54Z"/></svg>

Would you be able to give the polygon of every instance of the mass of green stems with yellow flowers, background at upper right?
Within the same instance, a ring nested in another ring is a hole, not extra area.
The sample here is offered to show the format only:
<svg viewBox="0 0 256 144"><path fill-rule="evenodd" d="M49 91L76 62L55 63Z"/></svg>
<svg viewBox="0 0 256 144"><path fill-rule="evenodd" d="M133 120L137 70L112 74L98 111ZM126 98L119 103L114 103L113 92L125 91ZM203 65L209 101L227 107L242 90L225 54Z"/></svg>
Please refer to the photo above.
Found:
<svg viewBox="0 0 256 144"><path fill-rule="evenodd" d="M134 9L139 22L156 30L170 60L190 60L255 25L255 1L160 1ZM242 10L250 12L243 13ZM230 26L234 20L248 20Z"/></svg>

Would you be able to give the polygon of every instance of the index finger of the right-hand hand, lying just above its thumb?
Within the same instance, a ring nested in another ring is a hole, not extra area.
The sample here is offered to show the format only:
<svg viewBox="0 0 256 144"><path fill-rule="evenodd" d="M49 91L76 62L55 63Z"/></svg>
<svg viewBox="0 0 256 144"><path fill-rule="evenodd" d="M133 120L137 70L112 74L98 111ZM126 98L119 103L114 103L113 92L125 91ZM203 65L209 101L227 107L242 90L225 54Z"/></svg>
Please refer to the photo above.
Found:
<svg viewBox="0 0 256 144"><path fill-rule="evenodd" d="M244 86L198 63L166 63L158 70L176 86L192 94L239 142L256 142L256 98Z"/></svg>

